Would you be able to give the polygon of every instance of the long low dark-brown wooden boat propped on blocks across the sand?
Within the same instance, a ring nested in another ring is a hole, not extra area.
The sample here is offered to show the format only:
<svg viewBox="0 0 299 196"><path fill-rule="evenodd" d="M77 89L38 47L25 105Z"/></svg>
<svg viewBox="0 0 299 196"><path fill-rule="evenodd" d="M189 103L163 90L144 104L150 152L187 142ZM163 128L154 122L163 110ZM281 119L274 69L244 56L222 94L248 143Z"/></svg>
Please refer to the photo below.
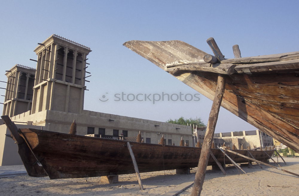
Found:
<svg viewBox="0 0 299 196"><path fill-rule="evenodd" d="M49 176L50 179L108 176L110 174L135 173L127 141L89 137L33 128L16 128L8 116L1 117L16 141L19 155L33 177ZM130 142L139 172L197 167L201 148L169 146ZM248 150L234 150L247 155ZM270 157L265 151L249 150L256 160ZM216 159L223 163L224 154L211 149ZM266 150L271 156L274 149ZM248 159L226 152L236 163ZM208 165L216 165L212 157Z"/></svg>

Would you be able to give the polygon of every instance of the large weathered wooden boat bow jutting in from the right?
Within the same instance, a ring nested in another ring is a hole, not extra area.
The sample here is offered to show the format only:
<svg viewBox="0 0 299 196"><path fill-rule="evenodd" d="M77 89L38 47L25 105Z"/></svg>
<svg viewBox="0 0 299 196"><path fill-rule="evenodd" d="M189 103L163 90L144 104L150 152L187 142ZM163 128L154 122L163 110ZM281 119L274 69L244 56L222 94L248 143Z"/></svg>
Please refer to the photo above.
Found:
<svg viewBox="0 0 299 196"><path fill-rule="evenodd" d="M221 106L299 152L299 52L225 59L211 40L217 58L178 40L123 45L211 100L224 75Z"/></svg>

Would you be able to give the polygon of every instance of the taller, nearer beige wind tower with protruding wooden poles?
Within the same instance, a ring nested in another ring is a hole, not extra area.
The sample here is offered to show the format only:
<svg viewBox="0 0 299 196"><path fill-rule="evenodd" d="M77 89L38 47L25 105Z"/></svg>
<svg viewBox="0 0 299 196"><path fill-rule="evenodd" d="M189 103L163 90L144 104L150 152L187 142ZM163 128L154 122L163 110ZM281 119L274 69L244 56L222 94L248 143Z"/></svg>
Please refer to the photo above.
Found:
<svg viewBox="0 0 299 196"><path fill-rule="evenodd" d="M34 52L37 66L31 113L55 110L80 114L90 48L53 34Z"/></svg>

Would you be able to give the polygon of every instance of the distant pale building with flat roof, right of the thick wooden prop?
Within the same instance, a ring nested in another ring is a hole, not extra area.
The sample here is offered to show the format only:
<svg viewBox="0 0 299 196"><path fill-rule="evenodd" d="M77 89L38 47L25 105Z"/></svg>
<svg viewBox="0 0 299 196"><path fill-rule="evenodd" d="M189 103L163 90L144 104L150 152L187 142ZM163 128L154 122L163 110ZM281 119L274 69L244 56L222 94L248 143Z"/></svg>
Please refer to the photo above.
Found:
<svg viewBox="0 0 299 196"><path fill-rule="evenodd" d="M235 131L226 133L216 133L214 138L223 139L225 146L232 148L233 144L240 149L243 144L244 149L253 146L273 146L273 139L269 135L263 133L260 130L254 131ZM217 146L221 146L221 143L215 143Z"/></svg>

